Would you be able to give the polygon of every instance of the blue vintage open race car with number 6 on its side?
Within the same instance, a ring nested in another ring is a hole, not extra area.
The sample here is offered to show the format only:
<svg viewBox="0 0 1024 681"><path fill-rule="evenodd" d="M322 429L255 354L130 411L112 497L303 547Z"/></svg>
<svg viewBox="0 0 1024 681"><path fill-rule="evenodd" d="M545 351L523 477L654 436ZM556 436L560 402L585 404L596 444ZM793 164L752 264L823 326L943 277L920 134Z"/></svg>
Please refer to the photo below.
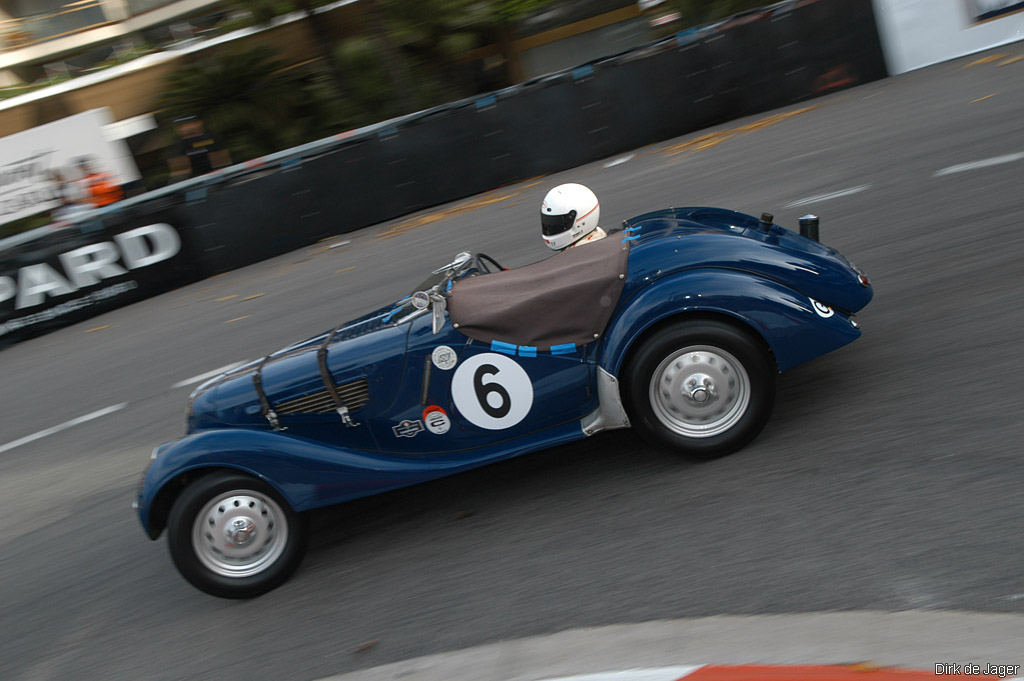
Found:
<svg viewBox="0 0 1024 681"><path fill-rule="evenodd" d="M860 335L870 299L814 238L716 208L641 215L516 269L463 253L402 300L197 388L139 519L196 587L250 597L299 564L310 509L610 428L722 456L765 425L779 372Z"/></svg>

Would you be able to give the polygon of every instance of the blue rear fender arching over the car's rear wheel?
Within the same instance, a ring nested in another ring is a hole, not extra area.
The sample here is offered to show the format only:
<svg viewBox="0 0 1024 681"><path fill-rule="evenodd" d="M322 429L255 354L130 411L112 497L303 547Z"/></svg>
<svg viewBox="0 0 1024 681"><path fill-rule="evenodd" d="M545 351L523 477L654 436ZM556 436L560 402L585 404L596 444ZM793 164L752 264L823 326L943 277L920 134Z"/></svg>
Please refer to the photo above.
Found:
<svg viewBox="0 0 1024 681"><path fill-rule="evenodd" d="M811 298L777 282L728 269L690 269L652 281L620 303L605 332L598 364L617 376L633 343L677 314L726 315L757 332L784 372L860 336L848 316L816 311Z"/></svg>

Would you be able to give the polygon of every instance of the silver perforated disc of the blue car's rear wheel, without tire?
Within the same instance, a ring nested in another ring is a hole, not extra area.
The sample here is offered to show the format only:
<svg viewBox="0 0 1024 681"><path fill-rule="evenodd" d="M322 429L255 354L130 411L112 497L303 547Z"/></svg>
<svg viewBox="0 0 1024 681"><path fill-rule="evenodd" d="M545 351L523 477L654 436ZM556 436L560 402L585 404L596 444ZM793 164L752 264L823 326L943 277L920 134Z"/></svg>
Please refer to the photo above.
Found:
<svg viewBox="0 0 1024 681"><path fill-rule="evenodd" d="M650 379L654 416L684 437L713 437L746 413L751 379L731 353L692 345L666 357Z"/></svg>

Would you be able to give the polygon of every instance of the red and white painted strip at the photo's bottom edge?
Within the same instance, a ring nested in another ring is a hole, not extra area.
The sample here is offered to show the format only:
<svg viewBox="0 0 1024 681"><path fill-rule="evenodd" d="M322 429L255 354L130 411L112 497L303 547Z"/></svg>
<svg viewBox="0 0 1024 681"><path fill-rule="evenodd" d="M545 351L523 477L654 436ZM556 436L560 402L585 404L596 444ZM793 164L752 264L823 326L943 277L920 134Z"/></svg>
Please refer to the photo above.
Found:
<svg viewBox="0 0 1024 681"><path fill-rule="evenodd" d="M961 666L962 668L964 666ZM561 676L544 681L921 681L922 679L954 678L999 679L1019 681L1018 677L985 675L988 668L968 666L959 673L939 674L939 670L916 671L861 665L773 666L773 665L702 665L696 667L663 667L636 669L603 674ZM944 670L943 670L944 671ZM952 671L952 670L950 670ZM1019 671L1019 670L1018 670Z"/></svg>

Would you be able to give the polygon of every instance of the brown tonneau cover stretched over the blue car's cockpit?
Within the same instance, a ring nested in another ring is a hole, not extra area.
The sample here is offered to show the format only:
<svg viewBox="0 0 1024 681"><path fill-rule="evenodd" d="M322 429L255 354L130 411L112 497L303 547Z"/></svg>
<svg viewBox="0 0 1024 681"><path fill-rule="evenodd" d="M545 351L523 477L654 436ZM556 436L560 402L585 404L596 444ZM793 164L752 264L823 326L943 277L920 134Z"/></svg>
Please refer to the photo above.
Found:
<svg viewBox="0 0 1024 681"><path fill-rule="evenodd" d="M547 260L456 282L447 301L456 328L489 343L585 345L604 333L625 284L629 245L612 235Z"/></svg>

